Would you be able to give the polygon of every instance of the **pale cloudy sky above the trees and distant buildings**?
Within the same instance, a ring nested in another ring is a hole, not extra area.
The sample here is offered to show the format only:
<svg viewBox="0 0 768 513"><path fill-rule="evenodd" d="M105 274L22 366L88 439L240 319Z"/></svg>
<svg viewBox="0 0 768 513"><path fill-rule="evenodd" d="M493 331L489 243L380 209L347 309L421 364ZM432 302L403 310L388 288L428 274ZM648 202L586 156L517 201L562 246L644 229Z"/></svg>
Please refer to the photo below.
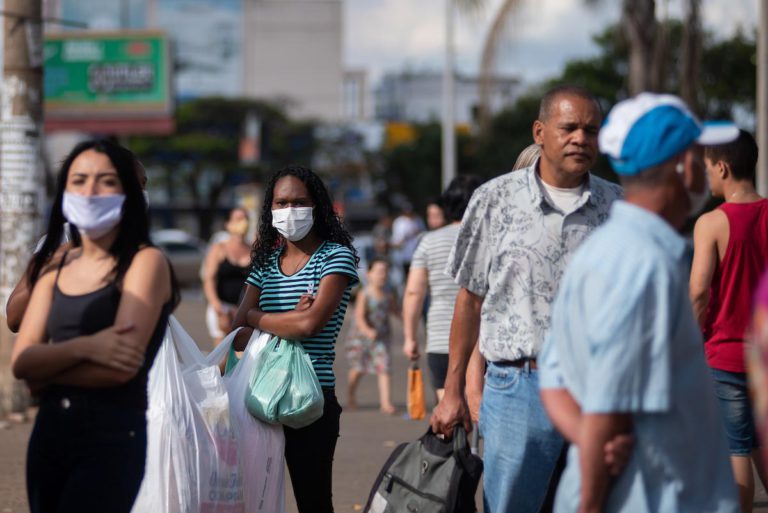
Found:
<svg viewBox="0 0 768 513"><path fill-rule="evenodd" d="M703 0L706 30L728 37L738 27L751 31L759 0ZM345 62L364 68L376 81L383 73L442 69L446 0L346 0ZM457 67L475 73L483 38L502 0L488 0L474 14L456 16ZM682 0L657 0L679 17ZM601 0L587 7L584 0L521 0L513 12L502 47L499 71L536 82L558 74L566 61L595 55L591 36L619 18L619 0Z"/></svg>

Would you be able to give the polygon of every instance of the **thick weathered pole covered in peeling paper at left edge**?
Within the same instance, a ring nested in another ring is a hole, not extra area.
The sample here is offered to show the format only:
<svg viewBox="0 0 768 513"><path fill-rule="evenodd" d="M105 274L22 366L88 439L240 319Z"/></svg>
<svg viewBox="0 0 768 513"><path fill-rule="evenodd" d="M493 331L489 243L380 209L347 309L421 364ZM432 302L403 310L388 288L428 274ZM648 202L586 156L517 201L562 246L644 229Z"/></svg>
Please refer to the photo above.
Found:
<svg viewBox="0 0 768 513"><path fill-rule="evenodd" d="M43 25L41 0L4 0L0 87L0 419L24 415L28 394L13 378L13 336L5 305L34 248L45 186L41 162Z"/></svg>

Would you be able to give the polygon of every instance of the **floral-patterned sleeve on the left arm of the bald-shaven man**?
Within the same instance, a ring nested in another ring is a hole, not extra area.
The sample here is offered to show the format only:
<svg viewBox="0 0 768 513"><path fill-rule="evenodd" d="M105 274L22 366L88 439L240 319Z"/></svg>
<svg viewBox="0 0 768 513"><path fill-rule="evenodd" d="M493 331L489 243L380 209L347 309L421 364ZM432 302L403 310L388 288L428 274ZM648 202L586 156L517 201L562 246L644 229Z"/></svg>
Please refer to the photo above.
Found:
<svg viewBox="0 0 768 513"><path fill-rule="evenodd" d="M485 296L488 292L491 265L488 196L485 188L478 189L472 195L445 268L445 274L452 277L457 285L478 296Z"/></svg>

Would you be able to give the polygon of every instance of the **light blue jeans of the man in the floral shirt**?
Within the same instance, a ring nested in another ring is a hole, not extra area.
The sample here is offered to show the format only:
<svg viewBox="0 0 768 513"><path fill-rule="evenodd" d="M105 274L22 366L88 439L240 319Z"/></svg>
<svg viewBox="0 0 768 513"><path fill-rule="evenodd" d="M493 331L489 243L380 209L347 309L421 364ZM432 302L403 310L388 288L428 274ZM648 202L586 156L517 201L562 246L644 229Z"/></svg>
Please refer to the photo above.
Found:
<svg viewBox="0 0 768 513"><path fill-rule="evenodd" d="M488 363L480 433L486 513L538 513L564 444L539 399L538 371Z"/></svg>

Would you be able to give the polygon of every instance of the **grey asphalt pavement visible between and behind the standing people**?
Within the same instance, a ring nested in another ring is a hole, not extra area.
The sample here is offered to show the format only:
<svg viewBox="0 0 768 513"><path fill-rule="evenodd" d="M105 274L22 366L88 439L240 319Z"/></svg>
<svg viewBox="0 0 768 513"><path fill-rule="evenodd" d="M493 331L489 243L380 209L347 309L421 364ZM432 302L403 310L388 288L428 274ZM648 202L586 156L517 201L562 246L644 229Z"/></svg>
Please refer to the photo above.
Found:
<svg viewBox="0 0 768 513"><path fill-rule="evenodd" d="M176 316L203 349L210 348L205 329L204 304L198 291L186 291ZM339 354L336 359L338 380L337 395L342 406L346 404L347 364L343 353L344 334L349 329L352 316L342 330ZM378 410L378 395L374 376L363 379L359 387L356 411L344 411L341 416L341 437L334 462L334 505L339 513L362 511L381 465L400 442L421 436L427 422L412 421L403 417L405 410L407 360L399 350L398 335L401 326L394 326L393 345L393 398L399 409L394 416ZM426 379L426 376L425 376ZM431 390L427 385L428 411L434 406L429 402ZM24 488L24 457L31 423L11 423L0 429L0 513L27 512ZM702 448L705 450L705 448ZM480 496L480 493L478 493ZM768 513L768 495L760 491L756 497L755 511ZM481 503L478 502L481 508ZM286 513L296 513L296 505L286 471Z"/></svg>

